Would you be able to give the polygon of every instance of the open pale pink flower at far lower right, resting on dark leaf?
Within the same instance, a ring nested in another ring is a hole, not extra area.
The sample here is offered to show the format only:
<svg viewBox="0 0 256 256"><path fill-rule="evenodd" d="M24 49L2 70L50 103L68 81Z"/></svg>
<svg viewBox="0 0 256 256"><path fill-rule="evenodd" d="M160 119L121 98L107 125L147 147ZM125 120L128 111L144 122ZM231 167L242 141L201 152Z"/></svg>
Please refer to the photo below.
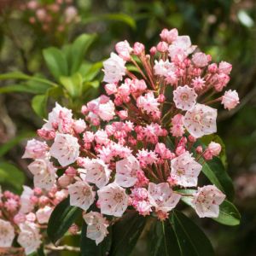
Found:
<svg viewBox="0 0 256 256"><path fill-rule="evenodd" d="M200 218L218 218L219 205L224 201L225 197L215 185L198 188L193 200L195 212Z"/></svg>

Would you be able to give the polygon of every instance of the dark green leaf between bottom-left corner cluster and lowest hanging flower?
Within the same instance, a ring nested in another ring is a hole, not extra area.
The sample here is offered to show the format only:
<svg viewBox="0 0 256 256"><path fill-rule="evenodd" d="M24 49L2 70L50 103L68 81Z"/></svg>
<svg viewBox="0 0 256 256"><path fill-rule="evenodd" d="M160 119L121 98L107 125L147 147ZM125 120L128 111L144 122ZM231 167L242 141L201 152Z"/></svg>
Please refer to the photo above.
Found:
<svg viewBox="0 0 256 256"><path fill-rule="evenodd" d="M61 201L51 213L47 228L50 241L55 243L67 232L76 218L82 213L78 207L71 207L69 197Z"/></svg>

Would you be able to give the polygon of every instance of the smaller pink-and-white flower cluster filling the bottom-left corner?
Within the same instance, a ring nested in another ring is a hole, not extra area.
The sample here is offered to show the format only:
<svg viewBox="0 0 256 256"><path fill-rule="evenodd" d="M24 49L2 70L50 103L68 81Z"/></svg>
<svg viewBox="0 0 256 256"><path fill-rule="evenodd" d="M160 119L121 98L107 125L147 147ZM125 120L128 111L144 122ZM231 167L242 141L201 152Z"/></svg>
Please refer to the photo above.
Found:
<svg viewBox="0 0 256 256"><path fill-rule="evenodd" d="M0 191L0 247L12 246L15 237L26 255L37 251L54 207L67 197L67 189L23 187L21 195Z"/></svg>

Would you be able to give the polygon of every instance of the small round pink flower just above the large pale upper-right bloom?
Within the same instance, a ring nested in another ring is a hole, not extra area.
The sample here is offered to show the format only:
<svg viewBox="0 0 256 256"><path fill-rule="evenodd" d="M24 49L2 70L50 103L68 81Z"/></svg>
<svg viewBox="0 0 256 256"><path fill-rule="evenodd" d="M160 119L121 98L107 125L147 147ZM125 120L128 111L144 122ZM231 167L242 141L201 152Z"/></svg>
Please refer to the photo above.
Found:
<svg viewBox="0 0 256 256"><path fill-rule="evenodd" d="M173 90L173 102L176 108L189 110L195 105L196 98L195 90L188 85L178 86L176 90Z"/></svg>

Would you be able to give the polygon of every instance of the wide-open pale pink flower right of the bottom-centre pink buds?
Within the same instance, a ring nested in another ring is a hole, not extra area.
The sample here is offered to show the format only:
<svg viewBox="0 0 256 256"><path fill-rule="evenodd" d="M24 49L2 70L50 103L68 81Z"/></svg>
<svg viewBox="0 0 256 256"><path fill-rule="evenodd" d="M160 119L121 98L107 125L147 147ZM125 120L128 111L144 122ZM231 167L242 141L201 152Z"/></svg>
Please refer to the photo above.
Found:
<svg viewBox="0 0 256 256"><path fill-rule="evenodd" d="M168 183L148 184L148 200L155 207L155 212L170 212L180 198L181 195L174 193Z"/></svg>

